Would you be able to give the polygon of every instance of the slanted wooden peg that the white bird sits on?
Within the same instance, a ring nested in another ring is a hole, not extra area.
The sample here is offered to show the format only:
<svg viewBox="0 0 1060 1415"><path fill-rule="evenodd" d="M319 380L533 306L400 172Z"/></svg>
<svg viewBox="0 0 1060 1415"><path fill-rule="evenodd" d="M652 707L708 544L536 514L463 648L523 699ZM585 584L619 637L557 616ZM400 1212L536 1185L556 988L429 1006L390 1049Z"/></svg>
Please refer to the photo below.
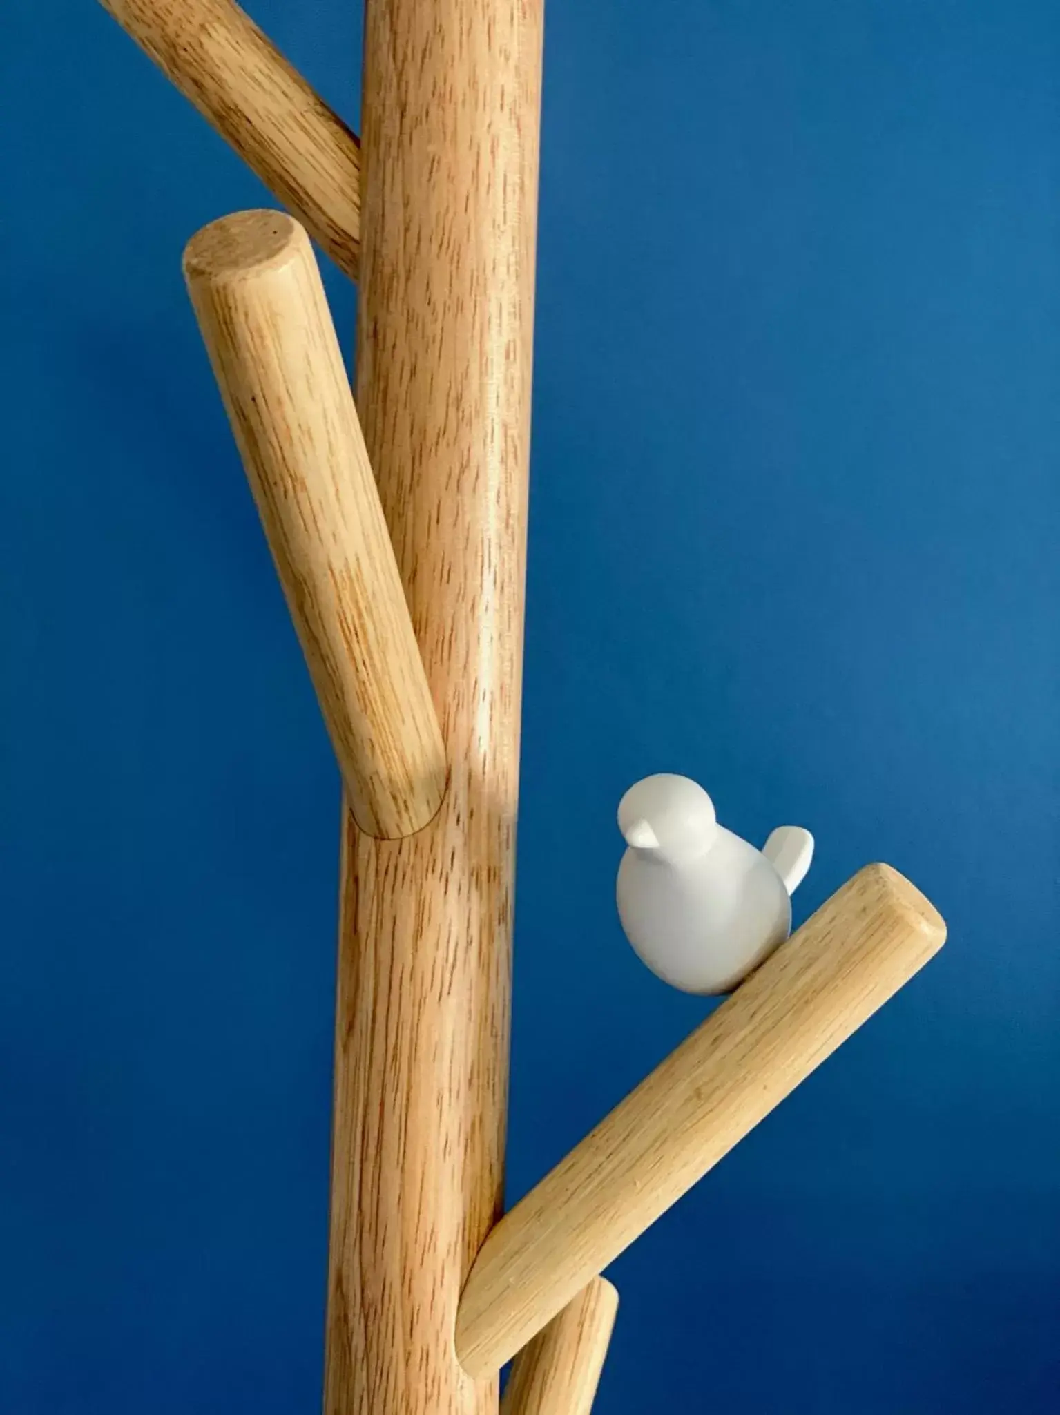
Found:
<svg viewBox="0 0 1060 1415"><path fill-rule="evenodd" d="M460 1303L464 1368L524 1347L944 938L896 870L855 874L497 1224Z"/></svg>

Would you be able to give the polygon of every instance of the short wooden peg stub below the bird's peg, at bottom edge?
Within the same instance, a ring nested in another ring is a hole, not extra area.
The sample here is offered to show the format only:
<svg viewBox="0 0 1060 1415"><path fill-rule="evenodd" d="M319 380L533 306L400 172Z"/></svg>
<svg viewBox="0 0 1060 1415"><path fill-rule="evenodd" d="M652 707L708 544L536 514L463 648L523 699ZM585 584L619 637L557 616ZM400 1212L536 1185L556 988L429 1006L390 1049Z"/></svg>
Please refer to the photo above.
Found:
<svg viewBox="0 0 1060 1415"><path fill-rule="evenodd" d="M501 1415L590 1415L618 1293L593 1278L515 1357Z"/></svg>

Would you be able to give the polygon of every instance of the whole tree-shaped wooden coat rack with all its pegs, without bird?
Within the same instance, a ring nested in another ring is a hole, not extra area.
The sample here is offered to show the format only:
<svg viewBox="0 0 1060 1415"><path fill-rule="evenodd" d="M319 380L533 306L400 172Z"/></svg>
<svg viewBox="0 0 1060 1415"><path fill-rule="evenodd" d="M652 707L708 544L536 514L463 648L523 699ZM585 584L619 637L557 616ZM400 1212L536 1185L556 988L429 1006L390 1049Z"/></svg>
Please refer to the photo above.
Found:
<svg viewBox="0 0 1060 1415"><path fill-rule="evenodd" d="M184 269L345 785L326 1415L587 1415L601 1271L945 925L868 866L502 1215L542 0L368 0L364 154L232 0L102 3L292 214Z"/></svg>

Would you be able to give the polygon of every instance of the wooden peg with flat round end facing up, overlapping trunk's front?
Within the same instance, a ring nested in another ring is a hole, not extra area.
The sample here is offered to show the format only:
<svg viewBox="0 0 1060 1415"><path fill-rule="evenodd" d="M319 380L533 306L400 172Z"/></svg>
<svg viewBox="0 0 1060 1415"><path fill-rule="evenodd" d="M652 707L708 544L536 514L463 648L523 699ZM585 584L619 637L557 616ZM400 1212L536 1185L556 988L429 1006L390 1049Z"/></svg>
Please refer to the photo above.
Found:
<svg viewBox="0 0 1060 1415"><path fill-rule="evenodd" d="M354 815L412 835L444 747L309 236L239 212L184 273Z"/></svg>

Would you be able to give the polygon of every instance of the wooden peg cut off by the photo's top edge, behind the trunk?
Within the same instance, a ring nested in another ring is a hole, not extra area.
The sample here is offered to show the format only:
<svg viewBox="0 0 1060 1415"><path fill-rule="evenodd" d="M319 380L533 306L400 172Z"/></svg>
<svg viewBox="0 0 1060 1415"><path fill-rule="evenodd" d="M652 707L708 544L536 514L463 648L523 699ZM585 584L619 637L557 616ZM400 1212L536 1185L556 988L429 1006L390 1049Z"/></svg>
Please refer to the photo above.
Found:
<svg viewBox="0 0 1060 1415"><path fill-rule="evenodd" d="M304 222L357 276L361 154L345 123L232 0L100 0Z"/></svg>

